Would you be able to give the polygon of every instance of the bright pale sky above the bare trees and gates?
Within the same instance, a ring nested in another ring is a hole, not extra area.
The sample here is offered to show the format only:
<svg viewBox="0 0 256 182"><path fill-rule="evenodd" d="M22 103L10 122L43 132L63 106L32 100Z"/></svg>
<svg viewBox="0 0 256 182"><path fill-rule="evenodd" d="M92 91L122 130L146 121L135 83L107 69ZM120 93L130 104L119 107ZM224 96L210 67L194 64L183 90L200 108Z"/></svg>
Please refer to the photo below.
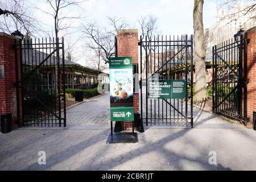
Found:
<svg viewBox="0 0 256 182"><path fill-rule="evenodd" d="M34 6L49 11L49 3L46 0L26 0ZM244 0L244 3L253 0ZM210 27L214 23L217 15L218 0L205 0L203 10L204 28ZM125 18L130 24L129 28L139 28L137 20L140 16L154 15L158 21L157 25L162 35L193 34L193 0L88 0L81 4L85 12L82 16L86 18L73 23L74 26L80 23L96 20L101 27L108 27L106 16ZM77 15L79 9L71 7L68 9L69 15ZM46 30L50 30L53 25L51 16L44 14L40 10L34 11L34 15L40 22L44 23ZM74 20L75 22L75 20ZM67 35L69 42L75 41L77 34ZM76 44L78 50L76 56L81 57L84 52L84 42L82 40ZM77 63L85 65L84 59L79 59Z"/></svg>

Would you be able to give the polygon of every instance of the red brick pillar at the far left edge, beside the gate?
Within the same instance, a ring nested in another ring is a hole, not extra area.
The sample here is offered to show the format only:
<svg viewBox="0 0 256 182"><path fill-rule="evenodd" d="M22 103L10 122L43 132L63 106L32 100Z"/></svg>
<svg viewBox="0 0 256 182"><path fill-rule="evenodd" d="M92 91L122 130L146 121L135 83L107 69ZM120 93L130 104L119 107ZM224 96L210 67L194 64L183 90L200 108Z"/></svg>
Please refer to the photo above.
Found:
<svg viewBox="0 0 256 182"><path fill-rule="evenodd" d="M16 71L14 36L0 32L0 67L4 68L4 78L0 78L0 115L11 114L13 128L17 127ZM17 40L18 43L18 40ZM19 51L17 51L18 53ZM19 53L18 53L18 63ZM18 64L18 70L19 64ZM19 74L20 78L20 74ZM20 113L21 113L21 94Z"/></svg>

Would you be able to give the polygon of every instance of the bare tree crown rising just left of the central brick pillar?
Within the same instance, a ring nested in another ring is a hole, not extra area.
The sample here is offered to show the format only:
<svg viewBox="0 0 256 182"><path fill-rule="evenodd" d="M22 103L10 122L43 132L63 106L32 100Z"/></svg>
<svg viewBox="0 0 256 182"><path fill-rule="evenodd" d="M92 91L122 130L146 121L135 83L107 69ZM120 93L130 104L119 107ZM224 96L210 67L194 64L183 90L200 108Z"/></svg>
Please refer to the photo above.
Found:
<svg viewBox="0 0 256 182"><path fill-rule="evenodd" d="M97 22L82 24L82 32L87 40L87 46L90 49L100 49L100 57L106 63L109 63L109 57L115 54L114 52L114 36L116 31L127 27L125 19L107 17L111 28L108 30L105 27L99 27ZM102 31L103 30L103 31Z"/></svg>

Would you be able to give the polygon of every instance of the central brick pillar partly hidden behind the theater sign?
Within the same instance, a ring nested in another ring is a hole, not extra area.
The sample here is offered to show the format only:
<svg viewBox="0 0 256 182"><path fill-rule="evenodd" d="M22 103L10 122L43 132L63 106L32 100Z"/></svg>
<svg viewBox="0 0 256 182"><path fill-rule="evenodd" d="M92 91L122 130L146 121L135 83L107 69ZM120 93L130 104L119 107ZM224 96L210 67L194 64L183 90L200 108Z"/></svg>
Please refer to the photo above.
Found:
<svg viewBox="0 0 256 182"><path fill-rule="evenodd" d="M138 30L124 29L117 31L117 55L118 57L131 56L133 63L139 63L138 54ZM139 113L139 94L133 96L134 113ZM132 123L125 122L125 130L131 130Z"/></svg>

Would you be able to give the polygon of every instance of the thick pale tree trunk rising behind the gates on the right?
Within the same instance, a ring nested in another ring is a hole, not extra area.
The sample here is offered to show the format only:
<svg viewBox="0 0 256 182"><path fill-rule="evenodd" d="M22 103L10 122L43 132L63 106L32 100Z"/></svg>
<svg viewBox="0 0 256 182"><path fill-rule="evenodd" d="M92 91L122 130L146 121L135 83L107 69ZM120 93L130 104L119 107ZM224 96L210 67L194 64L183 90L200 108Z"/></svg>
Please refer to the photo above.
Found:
<svg viewBox="0 0 256 182"><path fill-rule="evenodd" d="M207 98L207 85L205 77L205 39L203 24L203 0L194 0L193 28L195 40L195 100L202 101Z"/></svg>

